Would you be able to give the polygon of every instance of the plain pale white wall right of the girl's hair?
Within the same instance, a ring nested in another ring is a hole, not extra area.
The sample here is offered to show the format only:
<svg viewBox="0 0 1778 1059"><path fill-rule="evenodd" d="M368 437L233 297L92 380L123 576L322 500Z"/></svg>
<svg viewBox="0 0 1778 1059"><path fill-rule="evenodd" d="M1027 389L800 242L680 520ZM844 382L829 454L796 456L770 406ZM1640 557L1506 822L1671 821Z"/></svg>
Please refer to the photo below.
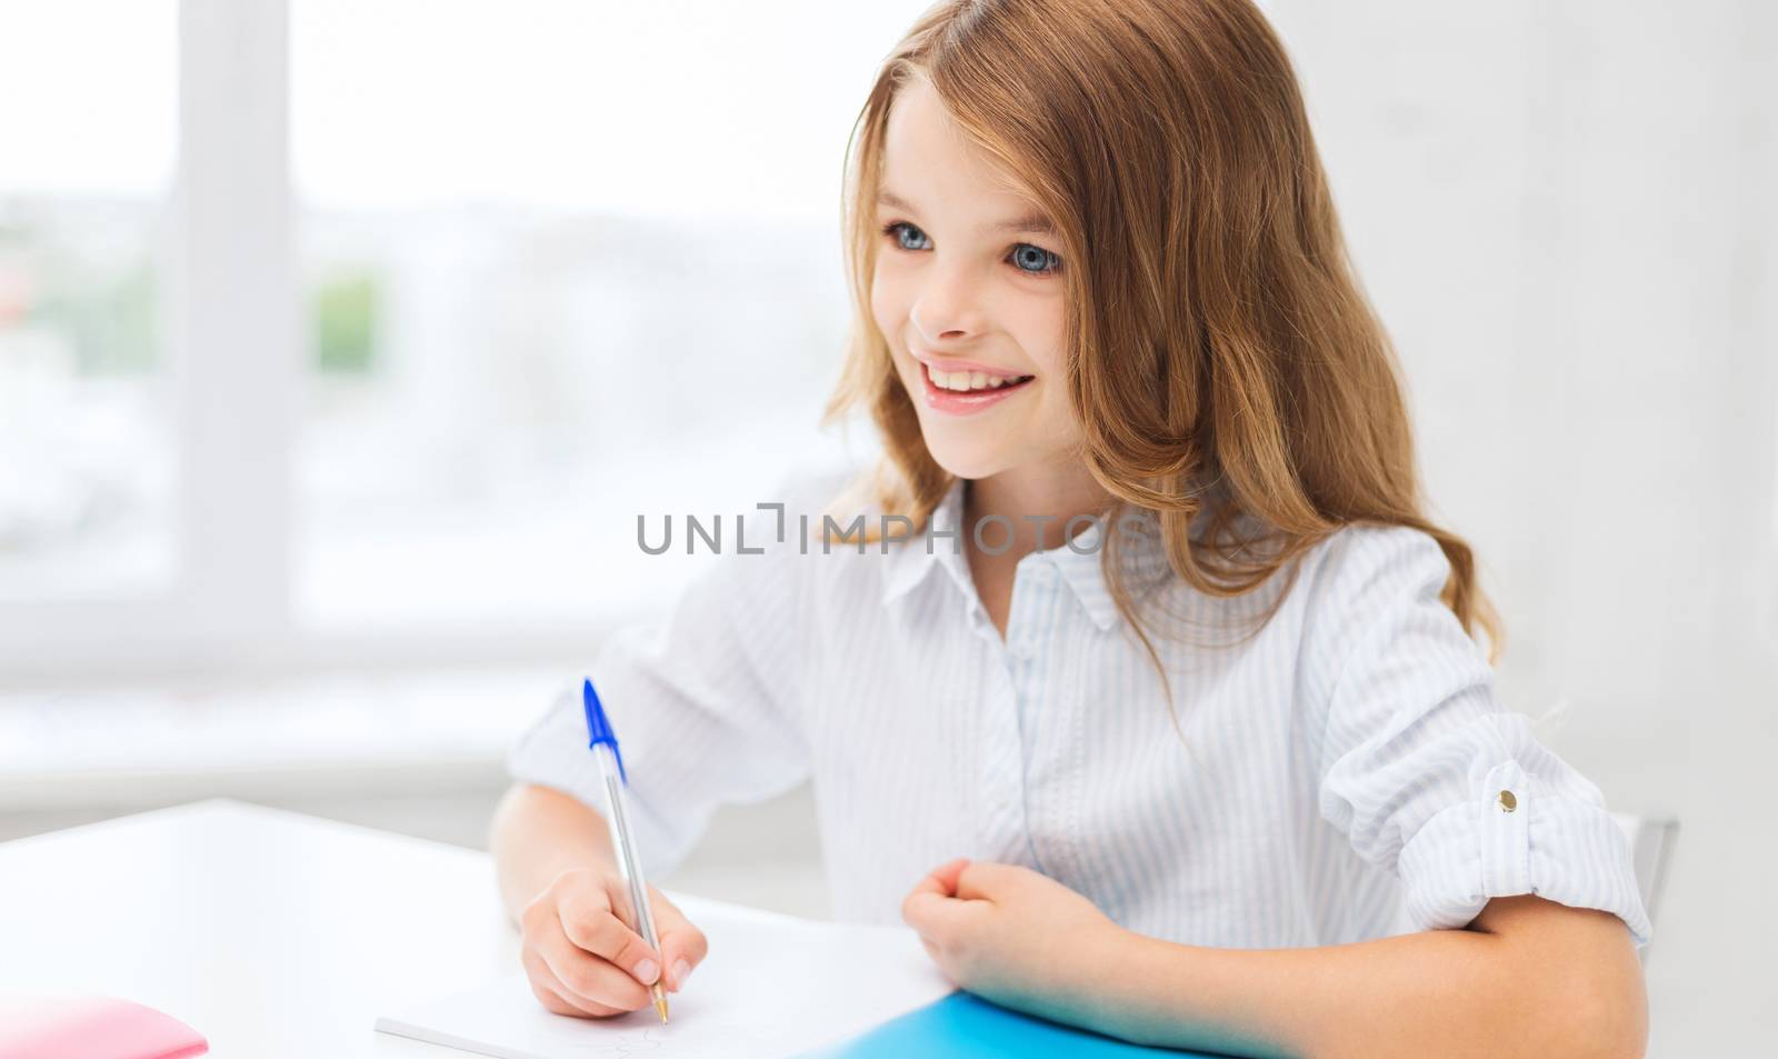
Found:
<svg viewBox="0 0 1778 1059"><path fill-rule="evenodd" d="M1280 0L1502 688L1614 808L1680 817L1654 1055L1771 1043L1778 16ZM1757 1032L1755 1027L1764 1027Z"/></svg>

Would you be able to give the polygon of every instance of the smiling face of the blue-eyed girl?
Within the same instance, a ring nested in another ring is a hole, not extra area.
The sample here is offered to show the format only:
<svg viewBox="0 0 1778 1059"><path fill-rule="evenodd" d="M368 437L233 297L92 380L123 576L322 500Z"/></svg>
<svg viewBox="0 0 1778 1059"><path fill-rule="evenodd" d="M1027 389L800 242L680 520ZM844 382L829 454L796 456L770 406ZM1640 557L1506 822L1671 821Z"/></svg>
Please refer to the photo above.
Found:
<svg viewBox="0 0 1778 1059"><path fill-rule="evenodd" d="M1065 458L1058 243L923 78L889 112L877 222L871 315L932 458L958 478Z"/></svg>

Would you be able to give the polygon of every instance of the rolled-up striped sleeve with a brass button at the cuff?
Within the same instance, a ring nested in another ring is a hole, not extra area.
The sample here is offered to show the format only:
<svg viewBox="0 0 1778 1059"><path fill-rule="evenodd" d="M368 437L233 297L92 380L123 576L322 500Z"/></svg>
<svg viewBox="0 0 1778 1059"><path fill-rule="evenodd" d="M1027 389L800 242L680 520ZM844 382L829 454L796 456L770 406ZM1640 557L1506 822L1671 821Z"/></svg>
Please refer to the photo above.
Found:
<svg viewBox="0 0 1778 1059"><path fill-rule="evenodd" d="M1648 944L1623 832L1598 787L1499 704L1481 647L1438 599L1451 570L1438 542L1355 526L1321 551L1303 659L1321 816L1399 876L1421 929L1536 894L1611 912Z"/></svg>

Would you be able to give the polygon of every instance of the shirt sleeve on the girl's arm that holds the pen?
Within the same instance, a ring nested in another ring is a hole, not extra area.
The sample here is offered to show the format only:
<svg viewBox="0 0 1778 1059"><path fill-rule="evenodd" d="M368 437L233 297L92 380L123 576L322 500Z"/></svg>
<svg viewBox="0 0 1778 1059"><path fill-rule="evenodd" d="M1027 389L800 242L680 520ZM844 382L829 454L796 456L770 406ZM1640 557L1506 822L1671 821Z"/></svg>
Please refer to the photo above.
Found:
<svg viewBox="0 0 1778 1059"><path fill-rule="evenodd" d="M747 547L759 537L749 519ZM765 544L765 554L715 556L665 618L617 631L585 673L617 732L647 871L677 865L718 805L770 798L809 775L795 665L802 581L795 547ZM605 812L581 673L512 750L509 771Z"/></svg>

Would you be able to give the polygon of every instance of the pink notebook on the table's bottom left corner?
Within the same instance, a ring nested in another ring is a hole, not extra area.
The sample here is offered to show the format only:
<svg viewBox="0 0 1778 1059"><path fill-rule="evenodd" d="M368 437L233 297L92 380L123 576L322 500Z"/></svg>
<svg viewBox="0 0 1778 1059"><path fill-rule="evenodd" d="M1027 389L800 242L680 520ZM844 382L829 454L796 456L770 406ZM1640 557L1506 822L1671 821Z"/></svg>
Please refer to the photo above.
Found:
<svg viewBox="0 0 1778 1059"><path fill-rule="evenodd" d="M0 997L0 1059L187 1059L210 1041L112 997Z"/></svg>

